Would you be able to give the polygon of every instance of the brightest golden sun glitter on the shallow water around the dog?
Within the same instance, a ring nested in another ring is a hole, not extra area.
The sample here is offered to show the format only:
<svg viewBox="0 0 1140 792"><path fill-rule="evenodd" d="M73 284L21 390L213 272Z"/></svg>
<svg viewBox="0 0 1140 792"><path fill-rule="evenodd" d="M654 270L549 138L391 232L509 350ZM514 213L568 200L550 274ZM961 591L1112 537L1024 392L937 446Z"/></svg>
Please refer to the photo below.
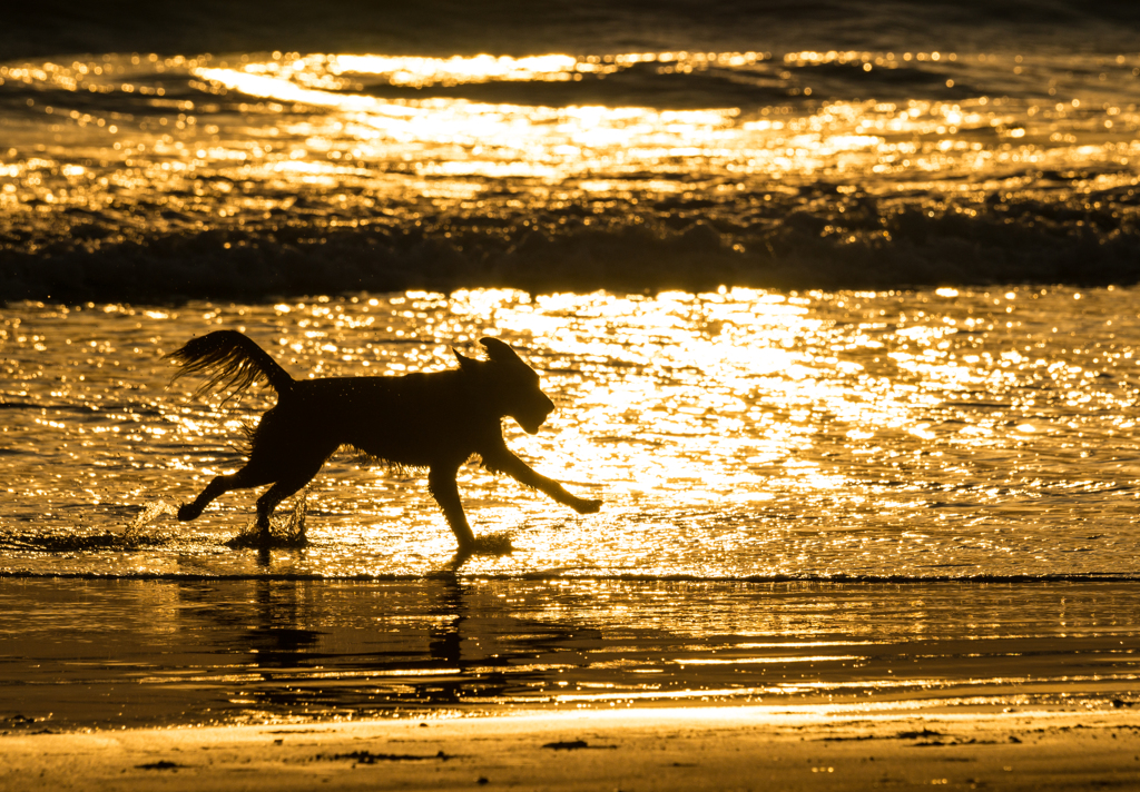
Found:
<svg viewBox="0 0 1140 792"><path fill-rule="evenodd" d="M448 343L473 346L489 328L523 350L560 410L534 436L508 423L510 444L571 489L603 497L606 507L575 517L466 468L461 488L477 530L514 526L521 548L475 558L472 570L617 563L682 572L736 558L750 573L780 574L834 554L834 569L850 572L879 569L905 547L926 548L939 564L995 563L1010 549L997 516L1010 504L1048 524L1042 492L1064 480L1050 457L1068 454L1093 428L1086 405L1131 416L1106 417L1094 430L1098 442L1123 441L1135 416L1112 389L1088 389L1093 358L1074 364L1011 349L1048 342L1052 333L1039 329L1041 319L1073 296L421 292L280 303L269 319L278 335L262 341L310 375L439 369L449 365ZM246 309L243 319L256 313ZM236 319L228 311L211 316ZM178 317L161 321L171 320ZM267 318L258 320L264 326ZM1132 338L1132 329L1114 327ZM1126 366L1135 349L1117 343L1091 354L1101 366ZM1056 383L1050 398L1067 399L1067 418L1034 411L1033 383L1043 374ZM214 426L220 416L185 409L174 423L196 442L226 426ZM1036 417L1011 423L1008 415ZM1054 438L1053 450L1026 458L1027 434ZM1020 459L1012 477L1009 459ZM310 563L326 571L369 569L361 547L383 548L385 564L399 557L416 565L451 546L418 476L337 458L309 497L321 514ZM997 511L958 508L959 498L992 501ZM231 500L227 511L239 512L241 499ZM335 506L342 501L351 507L342 512ZM933 512L931 501L939 504ZM836 525L842 531L829 529ZM923 530L899 539L906 525ZM335 549L349 537L357 537L350 553Z"/></svg>

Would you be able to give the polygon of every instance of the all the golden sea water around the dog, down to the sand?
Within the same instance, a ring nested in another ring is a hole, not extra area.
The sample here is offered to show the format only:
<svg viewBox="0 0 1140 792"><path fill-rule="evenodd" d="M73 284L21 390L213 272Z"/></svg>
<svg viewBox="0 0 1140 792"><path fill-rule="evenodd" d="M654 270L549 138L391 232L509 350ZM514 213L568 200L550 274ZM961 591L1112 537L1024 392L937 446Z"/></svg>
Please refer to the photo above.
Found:
<svg viewBox="0 0 1140 792"><path fill-rule="evenodd" d="M0 726L1133 703L1127 3L22 7L0 30ZM243 539L294 376L498 336L557 411L343 454Z"/></svg>

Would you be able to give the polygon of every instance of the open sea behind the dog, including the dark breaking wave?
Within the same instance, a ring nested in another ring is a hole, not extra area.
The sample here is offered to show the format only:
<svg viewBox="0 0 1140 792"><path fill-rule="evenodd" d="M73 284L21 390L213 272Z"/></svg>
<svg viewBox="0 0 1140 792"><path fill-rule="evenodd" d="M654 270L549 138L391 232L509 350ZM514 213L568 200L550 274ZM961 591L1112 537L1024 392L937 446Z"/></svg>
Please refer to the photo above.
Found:
<svg viewBox="0 0 1140 792"><path fill-rule="evenodd" d="M14 19L3 299L1137 279L1130 3Z"/></svg>

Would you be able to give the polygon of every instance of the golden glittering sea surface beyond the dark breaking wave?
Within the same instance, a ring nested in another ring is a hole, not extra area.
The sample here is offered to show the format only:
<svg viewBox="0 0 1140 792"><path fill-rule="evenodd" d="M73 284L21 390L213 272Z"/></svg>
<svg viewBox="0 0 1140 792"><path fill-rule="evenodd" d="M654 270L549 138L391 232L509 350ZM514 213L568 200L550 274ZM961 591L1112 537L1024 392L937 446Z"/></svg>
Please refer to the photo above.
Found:
<svg viewBox="0 0 1140 792"><path fill-rule="evenodd" d="M58 242L91 252L211 231L227 235L226 251L308 246L335 229L394 227L463 255L463 237L510 254L532 231L662 236L700 219L755 268L768 256L782 263L772 236L797 211L807 213L797 234L873 248L897 240L888 220L911 210L979 220L1016 196L1097 214L1093 194L1131 189L1135 107L1119 91L1059 93L1032 59L1011 62L1027 81L1013 98L979 89L854 99L850 84L828 89L837 68L904 66L918 75L953 68L962 84L993 88L1001 57L274 52L0 65L0 90L28 92L22 117L5 125L0 219L28 250ZM1131 84L1127 58L1094 60L1064 64ZM668 82L690 76L728 92ZM678 87L675 103L661 99ZM1113 201L1106 212L1133 211ZM608 280L592 287L613 287Z"/></svg>

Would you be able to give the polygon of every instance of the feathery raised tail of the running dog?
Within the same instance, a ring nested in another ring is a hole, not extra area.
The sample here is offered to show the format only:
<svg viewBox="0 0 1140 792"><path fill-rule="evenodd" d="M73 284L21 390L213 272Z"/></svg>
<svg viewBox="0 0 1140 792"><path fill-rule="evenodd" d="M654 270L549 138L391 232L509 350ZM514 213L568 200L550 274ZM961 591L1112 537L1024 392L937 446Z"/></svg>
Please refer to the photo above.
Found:
<svg viewBox="0 0 1140 792"><path fill-rule="evenodd" d="M268 382L278 397L293 390L293 377L288 371L252 338L237 330L215 330L190 338L185 346L166 357L180 366L174 379L187 374L210 377L194 392L195 397L230 391L228 400L259 382Z"/></svg>

